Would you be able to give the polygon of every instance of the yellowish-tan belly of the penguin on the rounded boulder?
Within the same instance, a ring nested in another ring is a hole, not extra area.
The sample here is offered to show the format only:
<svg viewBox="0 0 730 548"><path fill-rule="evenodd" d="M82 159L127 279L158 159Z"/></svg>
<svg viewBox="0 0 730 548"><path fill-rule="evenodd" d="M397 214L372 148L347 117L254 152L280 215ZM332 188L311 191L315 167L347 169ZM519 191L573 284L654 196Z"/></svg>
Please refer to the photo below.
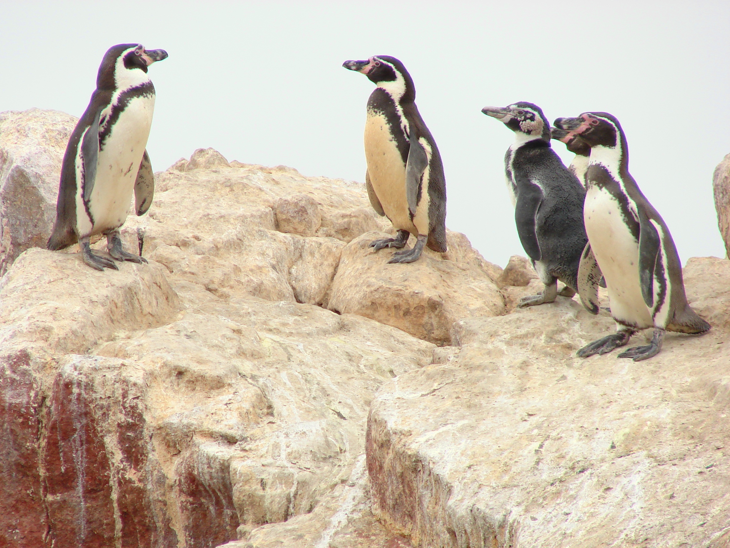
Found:
<svg viewBox="0 0 730 548"><path fill-rule="evenodd" d="M376 112L368 112L365 123L365 158L372 188L393 227L418 234L408 212L405 163L388 121Z"/></svg>

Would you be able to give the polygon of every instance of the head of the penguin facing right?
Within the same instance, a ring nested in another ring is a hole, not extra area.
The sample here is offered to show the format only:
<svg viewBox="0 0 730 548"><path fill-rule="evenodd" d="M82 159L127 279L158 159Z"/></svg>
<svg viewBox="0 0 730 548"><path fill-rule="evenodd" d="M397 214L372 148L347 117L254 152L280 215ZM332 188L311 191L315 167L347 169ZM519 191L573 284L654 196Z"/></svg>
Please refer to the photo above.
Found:
<svg viewBox="0 0 730 548"><path fill-rule="evenodd" d="M142 44L118 44L110 47L99 65L96 87L124 89L149 80L147 67L167 58L165 50L146 50Z"/></svg>

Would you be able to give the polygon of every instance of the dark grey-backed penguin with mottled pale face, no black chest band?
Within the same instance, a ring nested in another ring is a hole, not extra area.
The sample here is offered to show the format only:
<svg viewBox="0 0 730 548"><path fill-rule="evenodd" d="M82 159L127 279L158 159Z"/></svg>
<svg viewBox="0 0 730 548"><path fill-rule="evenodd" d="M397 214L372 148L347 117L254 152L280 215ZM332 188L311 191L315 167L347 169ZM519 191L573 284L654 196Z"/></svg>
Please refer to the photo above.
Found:
<svg viewBox="0 0 730 548"><path fill-rule="evenodd" d="M572 297L588 245L583 228L585 189L552 149L550 123L537 105L519 102L505 108L484 107L482 112L515 132L515 142L504 155L507 189L520 242L545 284L542 294L523 297L518 306L555 301L558 279L566 285L561 294Z"/></svg>

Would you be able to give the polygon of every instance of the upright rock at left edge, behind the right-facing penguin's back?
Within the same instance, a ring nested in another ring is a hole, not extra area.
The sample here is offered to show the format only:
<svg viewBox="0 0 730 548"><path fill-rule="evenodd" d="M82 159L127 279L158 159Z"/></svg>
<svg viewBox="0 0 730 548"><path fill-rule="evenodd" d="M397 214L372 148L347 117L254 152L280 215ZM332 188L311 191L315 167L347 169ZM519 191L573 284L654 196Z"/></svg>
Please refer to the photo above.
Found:
<svg viewBox="0 0 730 548"><path fill-rule="evenodd" d="M45 247L76 123L55 110L0 112L0 276L28 247Z"/></svg>

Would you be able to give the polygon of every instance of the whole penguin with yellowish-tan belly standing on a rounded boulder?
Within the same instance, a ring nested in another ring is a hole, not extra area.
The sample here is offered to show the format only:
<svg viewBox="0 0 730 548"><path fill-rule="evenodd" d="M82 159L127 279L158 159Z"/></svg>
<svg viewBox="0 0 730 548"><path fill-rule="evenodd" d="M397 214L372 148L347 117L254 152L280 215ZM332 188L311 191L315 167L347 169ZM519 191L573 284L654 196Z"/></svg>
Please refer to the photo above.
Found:
<svg viewBox="0 0 730 548"><path fill-rule="evenodd" d="M395 238L375 240L370 247L405 247L388 263L418 260L423 245L446 251L446 181L439 149L418 107L415 86L398 59L377 55L367 61L345 61L345 69L365 74L377 88L367 102L365 182L372 207L396 228Z"/></svg>

